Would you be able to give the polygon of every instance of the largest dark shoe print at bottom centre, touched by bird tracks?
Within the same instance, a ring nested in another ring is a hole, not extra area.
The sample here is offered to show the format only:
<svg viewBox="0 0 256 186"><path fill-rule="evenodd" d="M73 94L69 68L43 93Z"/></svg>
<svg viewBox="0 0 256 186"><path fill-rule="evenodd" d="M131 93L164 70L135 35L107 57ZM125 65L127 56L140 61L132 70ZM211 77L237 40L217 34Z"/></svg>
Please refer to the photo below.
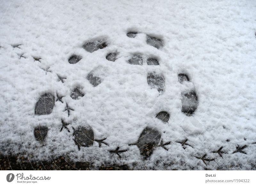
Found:
<svg viewBox="0 0 256 186"><path fill-rule="evenodd" d="M158 146L160 138L161 133L155 129L147 127L142 131L137 143L134 143L134 145L137 145L140 149L143 159L147 159L152 155L154 149Z"/></svg>

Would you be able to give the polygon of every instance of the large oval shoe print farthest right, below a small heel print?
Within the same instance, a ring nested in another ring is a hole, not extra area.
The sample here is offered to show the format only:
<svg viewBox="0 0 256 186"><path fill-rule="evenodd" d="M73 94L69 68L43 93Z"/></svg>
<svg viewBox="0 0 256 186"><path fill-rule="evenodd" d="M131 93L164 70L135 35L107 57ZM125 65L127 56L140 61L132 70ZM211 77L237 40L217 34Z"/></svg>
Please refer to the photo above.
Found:
<svg viewBox="0 0 256 186"><path fill-rule="evenodd" d="M181 112L187 116L191 116L197 109L198 99L195 91L182 94L182 109Z"/></svg>

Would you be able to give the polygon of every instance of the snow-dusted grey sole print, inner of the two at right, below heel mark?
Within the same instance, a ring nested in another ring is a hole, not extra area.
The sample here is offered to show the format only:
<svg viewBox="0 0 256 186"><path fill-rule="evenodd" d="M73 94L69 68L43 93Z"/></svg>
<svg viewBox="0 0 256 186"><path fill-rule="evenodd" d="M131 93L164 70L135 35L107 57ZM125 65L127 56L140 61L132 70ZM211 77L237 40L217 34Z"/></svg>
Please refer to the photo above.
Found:
<svg viewBox="0 0 256 186"><path fill-rule="evenodd" d="M156 74L156 73L148 73L148 77L147 77L147 81L148 81L148 85L152 88L152 89L157 89L158 92L162 92L164 90L164 76L160 75L160 74Z"/></svg>

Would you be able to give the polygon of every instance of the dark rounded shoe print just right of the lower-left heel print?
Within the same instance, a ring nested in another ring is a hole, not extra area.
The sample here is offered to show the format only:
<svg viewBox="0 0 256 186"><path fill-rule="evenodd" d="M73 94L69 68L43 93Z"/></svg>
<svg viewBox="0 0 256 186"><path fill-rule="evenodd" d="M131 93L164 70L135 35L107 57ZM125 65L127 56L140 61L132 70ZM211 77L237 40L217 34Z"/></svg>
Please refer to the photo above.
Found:
<svg viewBox="0 0 256 186"><path fill-rule="evenodd" d="M73 128L74 129L74 128ZM80 150L80 146L90 147L93 145L94 135L91 127L77 127L73 132L74 141Z"/></svg>

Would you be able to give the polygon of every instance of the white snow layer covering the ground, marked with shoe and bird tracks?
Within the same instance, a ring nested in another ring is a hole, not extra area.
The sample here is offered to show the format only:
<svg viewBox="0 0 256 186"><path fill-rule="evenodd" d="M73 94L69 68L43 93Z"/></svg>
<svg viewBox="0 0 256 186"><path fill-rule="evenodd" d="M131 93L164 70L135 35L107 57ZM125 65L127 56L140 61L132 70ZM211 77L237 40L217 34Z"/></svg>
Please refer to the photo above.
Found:
<svg viewBox="0 0 256 186"><path fill-rule="evenodd" d="M256 169L255 0L16 0L0 10L1 154Z"/></svg>

